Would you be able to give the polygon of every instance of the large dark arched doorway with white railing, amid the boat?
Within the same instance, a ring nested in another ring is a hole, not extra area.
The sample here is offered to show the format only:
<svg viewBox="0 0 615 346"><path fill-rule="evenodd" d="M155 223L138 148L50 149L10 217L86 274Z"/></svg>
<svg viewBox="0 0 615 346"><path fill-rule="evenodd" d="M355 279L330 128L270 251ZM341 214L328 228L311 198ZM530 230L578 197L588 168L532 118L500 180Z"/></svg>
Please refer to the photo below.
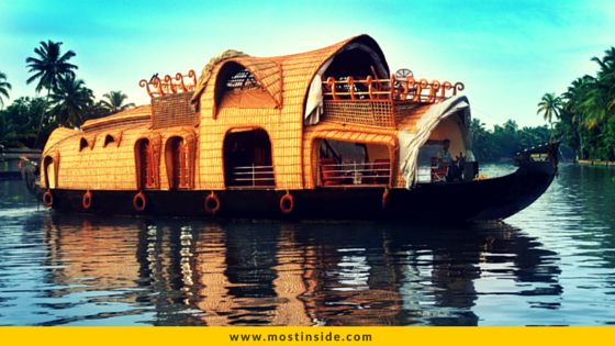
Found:
<svg viewBox="0 0 615 346"><path fill-rule="evenodd" d="M271 142L261 129L233 130L224 138L227 187L275 187Z"/></svg>

